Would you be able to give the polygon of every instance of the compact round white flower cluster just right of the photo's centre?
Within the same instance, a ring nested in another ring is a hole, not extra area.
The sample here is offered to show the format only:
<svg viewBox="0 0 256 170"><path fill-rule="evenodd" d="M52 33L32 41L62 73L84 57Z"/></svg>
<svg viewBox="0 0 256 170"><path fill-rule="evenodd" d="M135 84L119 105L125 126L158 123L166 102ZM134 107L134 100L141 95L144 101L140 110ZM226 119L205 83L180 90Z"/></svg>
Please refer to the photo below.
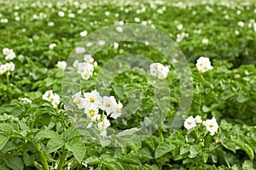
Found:
<svg viewBox="0 0 256 170"><path fill-rule="evenodd" d="M169 72L169 67L164 66L160 63L153 63L149 66L149 68L150 68L150 74L160 79L166 78Z"/></svg>

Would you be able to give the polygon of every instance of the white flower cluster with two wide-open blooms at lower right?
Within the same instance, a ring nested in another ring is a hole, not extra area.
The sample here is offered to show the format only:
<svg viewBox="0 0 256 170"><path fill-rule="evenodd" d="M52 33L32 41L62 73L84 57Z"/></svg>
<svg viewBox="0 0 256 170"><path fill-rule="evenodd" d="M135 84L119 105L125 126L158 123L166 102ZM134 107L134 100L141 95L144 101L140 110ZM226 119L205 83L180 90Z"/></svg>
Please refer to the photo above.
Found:
<svg viewBox="0 0 256 170"><path fill-rule="evenodd" d="M207 119L207 121L202 121L201 116L189 116L185 122L184 127L188 130L191 128L196 127L197 123L202 123L205 127L207 127L207 131L209 131L210 135L214 135L215 133L218 133L218 122L216 122L215 117L212 117L212 119Z"/></svg>

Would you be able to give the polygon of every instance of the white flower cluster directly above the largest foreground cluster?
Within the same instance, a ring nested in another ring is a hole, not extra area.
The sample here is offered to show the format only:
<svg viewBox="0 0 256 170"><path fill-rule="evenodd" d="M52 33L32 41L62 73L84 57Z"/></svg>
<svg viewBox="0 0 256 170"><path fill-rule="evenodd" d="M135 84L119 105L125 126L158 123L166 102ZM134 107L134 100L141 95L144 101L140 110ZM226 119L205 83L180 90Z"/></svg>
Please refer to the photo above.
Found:
<svg viewBox="0 0 256 170"><path fill-rule="evenodd" d="M94 66L97 62L91 57L90 54L84 55L84 62L79 63L78 60L73 62L73 66L77 69L77 72L81 75L84 80L88 80L94 71Z"/></svg>

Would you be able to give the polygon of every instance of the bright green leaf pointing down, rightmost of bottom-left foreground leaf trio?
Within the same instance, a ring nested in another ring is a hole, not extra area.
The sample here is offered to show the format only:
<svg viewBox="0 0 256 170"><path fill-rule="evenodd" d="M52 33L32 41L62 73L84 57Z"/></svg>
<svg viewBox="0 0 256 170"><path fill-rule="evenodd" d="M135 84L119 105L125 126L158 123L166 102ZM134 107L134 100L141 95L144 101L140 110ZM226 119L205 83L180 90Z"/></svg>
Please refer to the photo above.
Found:
<svg viewBox="0 0 256 170"><path fill-rule="evenodd" d="M73 156L77 161L81 162L85 156L85 146L80 139L73 139L66 144L67 150L73 152Z"/></svg>

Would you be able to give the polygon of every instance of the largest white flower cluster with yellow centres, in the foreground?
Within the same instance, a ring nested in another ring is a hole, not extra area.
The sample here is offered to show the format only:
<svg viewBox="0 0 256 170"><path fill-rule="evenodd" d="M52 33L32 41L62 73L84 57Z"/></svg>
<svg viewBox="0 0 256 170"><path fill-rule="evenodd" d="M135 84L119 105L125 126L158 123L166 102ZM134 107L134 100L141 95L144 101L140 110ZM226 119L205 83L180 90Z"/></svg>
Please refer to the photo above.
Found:
<svg viewBox="0 0 256 170"><path fill-rule="evenodd" d="M117 119L122 114L123 105L120 101L117 102L113 96L102 97L96 90L84 93L83 96L81 92L74 94L73 102L79 109L83 109L84 114L89 117L90 123L87 127L91 127L93 123L96 123L102 136L106 136L107 128L110 126L107 117L110 116L113 119ZM102 110L102 114L100 110Z"/></svg>

